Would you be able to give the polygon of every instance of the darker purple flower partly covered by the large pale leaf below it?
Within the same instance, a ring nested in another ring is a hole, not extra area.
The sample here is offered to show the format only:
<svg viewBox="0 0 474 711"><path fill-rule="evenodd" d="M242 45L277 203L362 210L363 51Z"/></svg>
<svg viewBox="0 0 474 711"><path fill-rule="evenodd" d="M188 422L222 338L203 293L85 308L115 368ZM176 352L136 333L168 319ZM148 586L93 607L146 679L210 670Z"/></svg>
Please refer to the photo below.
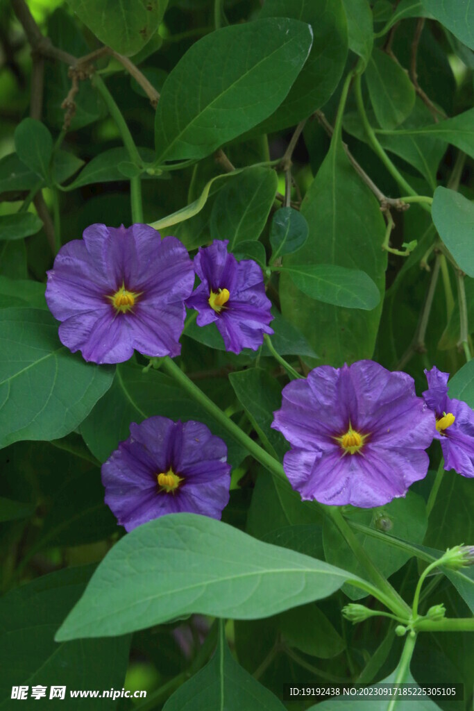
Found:
<svg viewBox="0 0 474 711"><path fill-rule="evenodd" d="M227 447L201 422L149 417L102 464L105 503L127 531L166 513L220 518L229 501Z"/></svg>

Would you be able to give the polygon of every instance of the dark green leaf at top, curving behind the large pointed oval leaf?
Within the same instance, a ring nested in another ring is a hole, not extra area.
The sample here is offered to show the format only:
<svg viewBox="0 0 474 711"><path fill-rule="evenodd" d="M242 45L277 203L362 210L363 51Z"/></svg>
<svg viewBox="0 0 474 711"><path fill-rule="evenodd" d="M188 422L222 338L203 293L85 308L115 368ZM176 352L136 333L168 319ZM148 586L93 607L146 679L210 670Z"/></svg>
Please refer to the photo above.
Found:
<svg viewBox="0 0 474 711"><path fill-rule="evenodd" d="M260 127L272 132L306 119L333 94L348 55L348 28L341 0L266 0L260 18L291 17L313 31L308 61L289 95Z"/></svg>

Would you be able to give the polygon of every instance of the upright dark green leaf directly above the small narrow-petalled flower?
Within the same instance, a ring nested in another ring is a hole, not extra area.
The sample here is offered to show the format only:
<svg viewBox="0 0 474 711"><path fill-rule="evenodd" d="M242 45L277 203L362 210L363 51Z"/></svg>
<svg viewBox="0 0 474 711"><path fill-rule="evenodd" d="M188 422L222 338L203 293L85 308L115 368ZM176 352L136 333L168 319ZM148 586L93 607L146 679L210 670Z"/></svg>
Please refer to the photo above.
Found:
<svg viewBox="0 0 474 711"><path fill-rule="evenodd" d="M278 176L270 168L247 168L221 188L210 215L216 240L229 240L232 252L239 242L258 240L274 203Z"/></svg>

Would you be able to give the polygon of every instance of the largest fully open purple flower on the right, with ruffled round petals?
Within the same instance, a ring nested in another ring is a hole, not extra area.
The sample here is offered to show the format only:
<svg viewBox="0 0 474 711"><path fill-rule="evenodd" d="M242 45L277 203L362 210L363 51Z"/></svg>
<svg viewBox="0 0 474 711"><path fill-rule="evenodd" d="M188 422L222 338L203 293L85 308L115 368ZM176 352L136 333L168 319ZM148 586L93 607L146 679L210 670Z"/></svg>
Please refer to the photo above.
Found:
<svg viewBox="0 0 474 711"><path fill-rule="evenodd" d="M282 394L271 426L293 448L284 469L301 498L372 508L426 476L434 417L406 373L372 360L322 365Z"/></svg>

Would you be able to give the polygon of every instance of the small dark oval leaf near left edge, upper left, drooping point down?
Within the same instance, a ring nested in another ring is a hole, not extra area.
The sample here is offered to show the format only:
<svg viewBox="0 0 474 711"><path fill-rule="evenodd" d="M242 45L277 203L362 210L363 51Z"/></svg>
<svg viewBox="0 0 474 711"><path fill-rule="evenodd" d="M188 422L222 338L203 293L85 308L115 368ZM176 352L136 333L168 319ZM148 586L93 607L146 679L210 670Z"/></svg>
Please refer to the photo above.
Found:
<svg viewBox="0 0 474 711"><path fill-rule="evenodd" d="M49 180L49 164L53 139L48 129L36 119L23 119L15 129L15 150L18 158L45 181Z"/></svg>

